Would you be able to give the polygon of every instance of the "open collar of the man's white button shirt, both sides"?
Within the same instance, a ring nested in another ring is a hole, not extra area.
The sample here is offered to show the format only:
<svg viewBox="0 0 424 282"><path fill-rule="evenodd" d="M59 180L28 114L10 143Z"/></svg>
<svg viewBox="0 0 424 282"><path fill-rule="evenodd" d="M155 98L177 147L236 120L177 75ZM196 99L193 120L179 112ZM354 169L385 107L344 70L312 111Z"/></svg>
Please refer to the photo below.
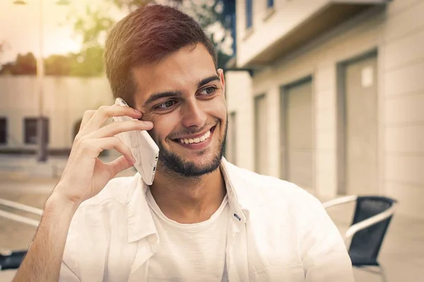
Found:
<svg viewBox="0 0 424 282"><path fill-rule="evenodd" d="M220 169L227 188L232 218L237 225L245 224L249 221L249 208L252 207L253 202L248 187L240 176L241 170L230 164L225 158L221 160ZM157 236L155 223L146 200L147 189L148 185L143 182L139 173L136 173L134 180L130 183L127 195L129 243L141 240L148 235Z"/></svg>

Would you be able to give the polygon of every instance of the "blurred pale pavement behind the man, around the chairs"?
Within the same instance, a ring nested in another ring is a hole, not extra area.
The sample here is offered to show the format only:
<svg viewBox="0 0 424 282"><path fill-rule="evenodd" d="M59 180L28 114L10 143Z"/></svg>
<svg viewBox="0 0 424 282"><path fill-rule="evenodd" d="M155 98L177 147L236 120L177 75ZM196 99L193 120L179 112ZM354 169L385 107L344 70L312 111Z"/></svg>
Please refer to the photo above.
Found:
<svg viewBox="0 0 424 282"><path fill-rule="evenodd" d="M124 171L120 176L134 174ZM0 198L28 204L42 209L58 178L0 178ZM0 206L1 210L14 212L33 219L37 216L16 212ZM344 234L353 216L353 204L328 210L341 234ZM35 234L36 228L0 217L0 250L25 250ZM424 221L395 215L384 239L379 262L384 267L389 282L424 281ZM11 281L15 271L0 271L0 282ZM382 281L377 274L354 269L355 281Z"/></svg>

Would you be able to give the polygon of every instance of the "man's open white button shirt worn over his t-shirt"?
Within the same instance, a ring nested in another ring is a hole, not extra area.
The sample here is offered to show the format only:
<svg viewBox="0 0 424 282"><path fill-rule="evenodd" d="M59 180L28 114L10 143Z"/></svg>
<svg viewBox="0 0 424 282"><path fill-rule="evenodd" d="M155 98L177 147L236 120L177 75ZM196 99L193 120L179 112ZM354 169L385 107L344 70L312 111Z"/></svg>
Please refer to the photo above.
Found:
<svg viewBox="0 0 424 282"><path fill-rule="evenodd" d="M353 282L351 260L321 202L298 186L220 166L232 216L228 281ZM147 281L160 248L139 174L114 178L83 202L69 229L60 281Z"/></svg>

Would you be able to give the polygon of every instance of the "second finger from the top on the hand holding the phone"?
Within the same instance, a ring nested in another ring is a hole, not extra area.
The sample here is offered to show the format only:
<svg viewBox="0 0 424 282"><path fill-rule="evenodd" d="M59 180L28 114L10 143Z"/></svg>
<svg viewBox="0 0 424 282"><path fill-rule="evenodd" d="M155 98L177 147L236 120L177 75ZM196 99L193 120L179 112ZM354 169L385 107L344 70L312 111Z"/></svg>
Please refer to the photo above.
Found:
<svg viewBox="0 0 424 282"><path fill-rule="evenodd" d="M153 123L151 121L117 121L103 126L99 130L87 135L89 138L111 137L119 133L133 130L151 130Z"/></svg>

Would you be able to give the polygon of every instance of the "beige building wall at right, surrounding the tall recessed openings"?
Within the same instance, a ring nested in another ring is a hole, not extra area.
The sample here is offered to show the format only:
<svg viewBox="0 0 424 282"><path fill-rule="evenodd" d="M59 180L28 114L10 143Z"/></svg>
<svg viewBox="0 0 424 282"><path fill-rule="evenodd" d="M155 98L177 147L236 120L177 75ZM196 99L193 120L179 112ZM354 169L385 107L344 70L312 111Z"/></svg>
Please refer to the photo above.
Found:
<svg viewBox="0 0 424 282"><path fill-rule="evenodd" d="M237 16L244 1L237 2ZM278 1L277 1L278 2ZM256 3L256 1L255 1ZM278 2L279 3L279 2ZM283 7L283 6L282 6ZM254 9L254 13L256 10ZM375 8L336 27L272 63L252 78L251 97L231 92L241 83L228 75L228 108L237 104L249 121L253 118L252 101L257 94L266 94L269 103L269 175L279 176L278 152L279 93L290 82L312 75L317 195L323 198L337 195L337 114L336 105L338 63L351 60L370 51L378 52L378 179L379 192L401 202L399 212L424 217L420 201L424 196L424 0L392 1L387 8ZM276 15L275 15L276 16ZM240 15L240 18L243 18ZM281 19L282 24L284 19ZM244 22L243 22L244 23ZM240 23L239 23L240 25ZM237 27L240 28L240 27ZM238 29L237 29L238 30ZM254 30L257 32L257 30ZM262 30L261 36L268 36ZM255 44L264 44L257 40ZM252 43L252 42L251 42ZM249 43L250 44L250 43ZM252 43L253 44L253 43ZM239 45L240 46L240 45ZM242 51L239 49L238 51ZM237 53L238 56L243 56ZM247 91L247 90L246 90ZM248 91L247 91L248 92ZM235 99L238 97L239 99ZM233 104L235 103L235 104ZM241 120L241 118L240 118ZM240 123L240 147L247 163L254 163L252 145L245 145L253 123ZM250 129L249 129L250 128ZM243 140L243 141L241 141Z"/></svg>

